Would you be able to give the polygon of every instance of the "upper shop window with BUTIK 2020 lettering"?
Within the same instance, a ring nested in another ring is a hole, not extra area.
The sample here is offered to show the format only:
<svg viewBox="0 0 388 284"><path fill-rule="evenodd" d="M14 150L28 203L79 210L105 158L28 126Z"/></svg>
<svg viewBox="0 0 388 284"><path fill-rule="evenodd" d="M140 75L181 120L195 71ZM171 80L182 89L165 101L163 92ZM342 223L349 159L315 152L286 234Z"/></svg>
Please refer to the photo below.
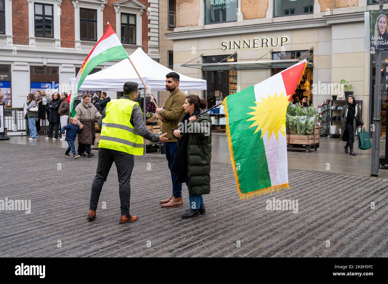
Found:
<svg viewBox="0 0 388 284"><path fill-rule="evenodd" d="M237 21L238 0L204 0L205 24Z"/></svg>

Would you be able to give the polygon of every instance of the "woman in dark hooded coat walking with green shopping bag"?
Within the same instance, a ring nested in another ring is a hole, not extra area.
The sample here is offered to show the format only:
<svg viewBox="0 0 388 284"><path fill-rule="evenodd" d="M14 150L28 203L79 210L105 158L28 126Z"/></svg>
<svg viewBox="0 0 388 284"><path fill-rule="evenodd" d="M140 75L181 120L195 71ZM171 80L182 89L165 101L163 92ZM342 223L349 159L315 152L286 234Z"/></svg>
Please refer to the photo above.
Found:
<svg viewBox="0 0 388 284"><path fill-rule="evenodd" d="M345 153L348 153L348 147L350 147L350 155L356 156L355 152L353 152L354 133L356 133L356 128L359 125L362 128L365 128L365 125L362 120L361 110L354 96L349 95L347 101L341 112L342 128L340 140L346 141Z"/></svg>

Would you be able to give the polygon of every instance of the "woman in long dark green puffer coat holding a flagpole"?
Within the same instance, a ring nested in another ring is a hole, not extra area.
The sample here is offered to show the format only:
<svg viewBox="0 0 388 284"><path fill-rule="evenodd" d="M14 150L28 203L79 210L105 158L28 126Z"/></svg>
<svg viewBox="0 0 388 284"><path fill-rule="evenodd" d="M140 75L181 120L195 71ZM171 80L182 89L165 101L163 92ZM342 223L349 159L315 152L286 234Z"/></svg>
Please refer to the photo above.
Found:
<svg viewBox="0 0 388 284"><path fill-rule="evenodd" d="M172 168L177 175L175 183L185 182L189 190L190 209L182 215L184 219L204 214L202 195L210 193L211 119L207 113L196 117L206 105L206 99L187 96L179 130L171 130L178 139Z"/></svg>

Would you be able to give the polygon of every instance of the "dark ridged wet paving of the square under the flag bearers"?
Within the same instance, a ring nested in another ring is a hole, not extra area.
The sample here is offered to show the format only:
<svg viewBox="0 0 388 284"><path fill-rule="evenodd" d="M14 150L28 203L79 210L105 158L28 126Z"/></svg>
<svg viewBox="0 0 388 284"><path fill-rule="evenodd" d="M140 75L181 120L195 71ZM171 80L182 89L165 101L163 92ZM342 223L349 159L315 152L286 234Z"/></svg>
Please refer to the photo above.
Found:
<svg viewBox="0 0 388 284"><path fill-rule="evenodd" d="M289 168L289 190L240 201L229 161L218 157L211 165L211 193L204 195L207 214L184 220L180 215L189 208L185 185L184 207L161 209L158 203L171 194L166 159L135 157L130 212L139 220L118 222L113 167L97 218L88 222L97 155L73 160L63 152L44 141L0 142L0 199L31 200L30 214L0 211L1 257L388 256L386 178L294 167ZM314 154L303 155L312 159ZM273 197L298 200L298 212L266 210Z"/></svg>

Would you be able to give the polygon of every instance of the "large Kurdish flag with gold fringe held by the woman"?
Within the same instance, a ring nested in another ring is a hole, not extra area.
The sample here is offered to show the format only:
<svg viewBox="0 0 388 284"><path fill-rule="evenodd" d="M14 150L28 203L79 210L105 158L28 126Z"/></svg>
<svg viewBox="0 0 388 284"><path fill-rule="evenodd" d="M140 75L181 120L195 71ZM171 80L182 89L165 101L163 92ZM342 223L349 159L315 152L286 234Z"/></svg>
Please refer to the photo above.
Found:
<svg viewBox="0 0 388 284"><path fill-rule="evenodd" d="M240 199L288 188L286 112L307 60L223 101Z"/></svg>

